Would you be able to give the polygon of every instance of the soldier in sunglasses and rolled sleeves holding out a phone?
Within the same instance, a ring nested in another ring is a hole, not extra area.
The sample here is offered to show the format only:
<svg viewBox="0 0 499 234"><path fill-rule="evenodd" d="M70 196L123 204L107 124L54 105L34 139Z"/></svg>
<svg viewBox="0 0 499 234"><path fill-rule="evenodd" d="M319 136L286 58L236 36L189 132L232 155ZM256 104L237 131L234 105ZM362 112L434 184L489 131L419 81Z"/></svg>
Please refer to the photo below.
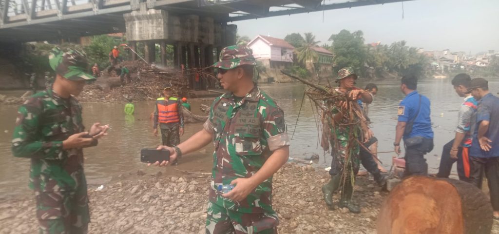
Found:
<svg viewBox="0 0 499 234"><path fill-rule="evenodd" d="M277 232L272 175L287 161L289 140L283 111L252 81L254 65L249 48L224 48L213 67L229 92L215 99L203 130L177 147L158 147L173 161L213 141L207 234ZM223 194L220 187L229 184L234 189Z"/></svg>

